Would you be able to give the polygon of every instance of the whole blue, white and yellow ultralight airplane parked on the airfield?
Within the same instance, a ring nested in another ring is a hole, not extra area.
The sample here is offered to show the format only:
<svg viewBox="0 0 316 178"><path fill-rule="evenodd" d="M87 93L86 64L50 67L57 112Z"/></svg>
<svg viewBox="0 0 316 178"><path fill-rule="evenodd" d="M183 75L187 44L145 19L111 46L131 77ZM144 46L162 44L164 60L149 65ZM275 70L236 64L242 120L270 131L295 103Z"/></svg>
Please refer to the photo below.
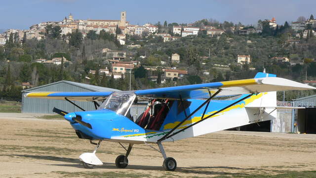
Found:
<svg viewBox="0 0 316 178"><path fill-rule="evenodd" d="M167 157L162 142L208 134L276 118L276 91L316 89L268 73L254 79L214 82L178 87L110 92L30 92L25 97L67 100L82 112L67 113L54 108L75 129L79 138L96 145L92 153L79 160L85 168L103 163L96 156L101 141L118 142L125 155L116 158L116 166L125 168L133 144L158 144L163 167L174 171L176 160ZM90 101L96 110L84 111L73 101ZM102 101L99 104L98 101ZM137 118L130 116L132 104L148 104ZM98 143L92 142L98 140ZM121 143L129 143L125 148Z"/></svg>

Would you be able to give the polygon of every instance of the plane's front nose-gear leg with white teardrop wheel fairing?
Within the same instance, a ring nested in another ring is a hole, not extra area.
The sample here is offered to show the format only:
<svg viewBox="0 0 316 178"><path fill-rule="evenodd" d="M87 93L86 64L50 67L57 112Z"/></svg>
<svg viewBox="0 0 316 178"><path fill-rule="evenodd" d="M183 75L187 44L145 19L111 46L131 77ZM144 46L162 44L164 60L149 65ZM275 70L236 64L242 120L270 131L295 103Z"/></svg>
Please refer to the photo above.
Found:
<svg viewBox="0 0 316 178"><path fill-rule="evenodd" d="M79 156L79 160L81 161L84 168L92 169L95 165L103 165L102 161L100 161L100 159L95 155L95 152L98 150L101 141L102 140L100 139L98 143L94 143L90 140L91 144L96 145L94 151L92 153L82 153Z"/></svg>

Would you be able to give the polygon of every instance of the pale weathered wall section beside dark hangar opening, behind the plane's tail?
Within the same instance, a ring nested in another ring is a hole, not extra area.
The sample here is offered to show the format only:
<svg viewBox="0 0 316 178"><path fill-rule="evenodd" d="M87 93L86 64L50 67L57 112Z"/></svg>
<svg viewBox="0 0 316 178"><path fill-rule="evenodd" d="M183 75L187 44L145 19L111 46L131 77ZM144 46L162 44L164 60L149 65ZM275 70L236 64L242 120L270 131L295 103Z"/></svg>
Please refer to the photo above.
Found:
<svg viewBox="0 0 316 178"><path fill-rule="evenodd" d="M271 121L271 132L290 133L292 130L292 109L277 109L275 120Z"/></svg>

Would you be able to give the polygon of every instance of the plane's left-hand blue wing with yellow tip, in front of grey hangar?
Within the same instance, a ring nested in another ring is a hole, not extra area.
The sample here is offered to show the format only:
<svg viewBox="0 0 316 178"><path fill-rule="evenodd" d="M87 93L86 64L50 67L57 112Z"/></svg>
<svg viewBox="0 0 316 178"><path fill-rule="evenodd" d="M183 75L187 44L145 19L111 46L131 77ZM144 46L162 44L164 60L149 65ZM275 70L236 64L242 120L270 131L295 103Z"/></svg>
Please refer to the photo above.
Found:
<svg viewBox="0 0 316 178"><path fill-rule="evenodd" d="M87 91L87 92L29 92L24 97L46 98L73 101L95 101L106 99L113 91Z"/></svg>

